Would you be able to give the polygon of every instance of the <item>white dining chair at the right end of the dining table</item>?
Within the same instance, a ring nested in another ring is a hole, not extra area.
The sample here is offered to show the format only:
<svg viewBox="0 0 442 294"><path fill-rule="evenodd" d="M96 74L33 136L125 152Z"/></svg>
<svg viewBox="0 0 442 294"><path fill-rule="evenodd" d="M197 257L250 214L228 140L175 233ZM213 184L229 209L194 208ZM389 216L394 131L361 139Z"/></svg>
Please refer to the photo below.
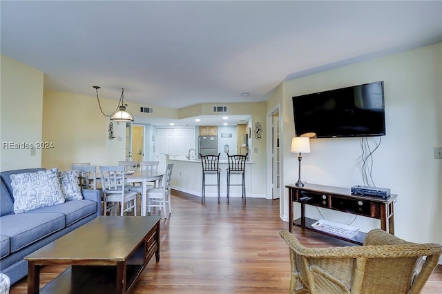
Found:
<svg viewBox="0 0 442 294"><path fill-rule="evenodd" d="M171 179L172 179L173 164L168 164L166 173L163 179L160 180L160 186L151 188L146 193L146 207L148 213L151 213L151 208L157 207L160 211L163 210L164 217L167 218L172 213L171 207ZM166 212L169 206L169 213Z"/></svg>

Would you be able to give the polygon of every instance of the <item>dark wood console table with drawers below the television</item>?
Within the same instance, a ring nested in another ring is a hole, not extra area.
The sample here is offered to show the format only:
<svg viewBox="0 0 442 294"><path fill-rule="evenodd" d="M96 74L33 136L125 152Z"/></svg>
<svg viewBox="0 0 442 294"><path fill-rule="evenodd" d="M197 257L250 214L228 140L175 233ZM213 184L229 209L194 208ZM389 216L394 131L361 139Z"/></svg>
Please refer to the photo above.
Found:
<svg viewBox="0 0 442 294"><path fill-rule="evenodd" d="M323 186L317 184L305 184L303 187L292 185L285 186L289 189L289 231L293 226L300 226L307 230L315 231L347 242L362 245L366 233L358 232L352 239L340 235L333 235L324 231L315 230L311 225L317 222L317 219L305 217L305 205L323 207L332 210L352 213L354 215L363 215L381 219L381 228L384 231L394 235L394 216L393 206L397 195L392 194L387 199L374 196L352 195L350 188L339 188L333 186ZM293 204L301 204L300 218L294 220Z"/></svg>

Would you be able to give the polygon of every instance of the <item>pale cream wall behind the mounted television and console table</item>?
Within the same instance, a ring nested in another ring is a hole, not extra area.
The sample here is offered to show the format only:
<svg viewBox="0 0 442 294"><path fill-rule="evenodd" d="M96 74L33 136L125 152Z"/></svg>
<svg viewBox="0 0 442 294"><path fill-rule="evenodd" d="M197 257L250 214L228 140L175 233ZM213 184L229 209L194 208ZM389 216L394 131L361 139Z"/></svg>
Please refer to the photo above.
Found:
<svg viewBox="0 0 442 294"><path fill-rule="evenodd" d="M442 231L442 160L433 148L442 146L442 44L321 72L283 84L284 184L298 177L296 154L290 153L294 136L291 97L384 81L386 136L374 153L372 176L378 187L398 194L394 204L395 235L415 242L440 242ZM325 122L326 123L326 122ZM369 139L372 146L378 138ZM302 180L332 186L362 184L361 139L312 139L311 153L302 155ZM283 202L288 200L287 188ZM322 210L329 220L349 223L353 215ZM284 206L287 219L288 206ZM297 211L299 213L299 211ZM323 218L316 208L311 218ZM353 226L369 230L378 220L357 217Z"/></svg>

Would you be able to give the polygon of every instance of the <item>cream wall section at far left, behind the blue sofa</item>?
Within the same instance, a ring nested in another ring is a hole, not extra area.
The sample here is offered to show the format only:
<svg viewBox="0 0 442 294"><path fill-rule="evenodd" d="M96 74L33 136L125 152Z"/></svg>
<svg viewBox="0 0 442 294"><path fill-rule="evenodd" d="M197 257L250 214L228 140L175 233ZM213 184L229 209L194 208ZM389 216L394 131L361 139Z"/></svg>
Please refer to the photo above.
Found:
<svg viewBox="0 0 442 294"><path fill-rule="evenodd" d="M43 79L43 72L1 56L0 170L41 166ZM8 142L23 146L9 149ZM37 147L32 156L30 144Z"/></svg>

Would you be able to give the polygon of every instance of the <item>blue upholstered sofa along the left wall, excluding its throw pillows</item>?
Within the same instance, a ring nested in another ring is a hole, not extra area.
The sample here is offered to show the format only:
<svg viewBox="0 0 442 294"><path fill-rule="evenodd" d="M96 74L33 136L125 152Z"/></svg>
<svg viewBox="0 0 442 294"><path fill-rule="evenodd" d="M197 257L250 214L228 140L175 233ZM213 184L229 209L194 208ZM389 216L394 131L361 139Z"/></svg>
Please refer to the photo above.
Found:
<svg viewBox="0 0 442 294"><path fill-rule="evenodd" d="M99 190L81 190L82 200L15 214L10 175L38 170L45 169L0 173L0 273L8 275L11 284L28 275L28 262L23 257L101 215Z"/></svg>

